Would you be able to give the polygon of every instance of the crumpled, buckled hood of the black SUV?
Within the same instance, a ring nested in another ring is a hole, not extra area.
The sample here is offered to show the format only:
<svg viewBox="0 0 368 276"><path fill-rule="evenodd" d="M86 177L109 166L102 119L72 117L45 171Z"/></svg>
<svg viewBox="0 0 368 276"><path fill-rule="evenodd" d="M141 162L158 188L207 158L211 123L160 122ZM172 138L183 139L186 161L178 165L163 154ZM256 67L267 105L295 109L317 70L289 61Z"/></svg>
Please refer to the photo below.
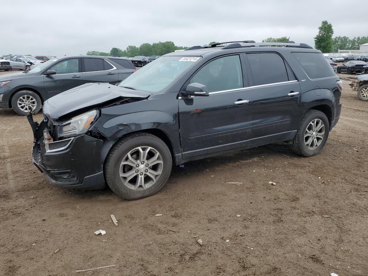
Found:
<svg viewBox="0 0 368 276"><path fill-rule="evenodd" d="M119 87L109 83L88 83L64 91L45 101L43 113L51 120L85 107L93 107L109 100L123 98L148 98L151 94Z"/></svg>

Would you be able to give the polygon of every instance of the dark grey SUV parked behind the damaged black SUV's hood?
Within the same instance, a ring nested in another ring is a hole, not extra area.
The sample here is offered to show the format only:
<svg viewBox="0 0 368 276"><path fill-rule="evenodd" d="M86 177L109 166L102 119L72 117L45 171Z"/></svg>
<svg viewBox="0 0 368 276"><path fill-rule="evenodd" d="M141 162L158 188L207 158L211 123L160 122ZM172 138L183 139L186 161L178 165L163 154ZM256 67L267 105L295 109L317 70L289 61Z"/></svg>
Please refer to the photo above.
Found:
<svg viewBox="0 0 368 276"><path fill-rule="evenodd" d="M88 82L116 84L135 71L119 57L68 56L55 58L26 72L0 76L0 108L26 116L31 109L63 91Z"/></svg>

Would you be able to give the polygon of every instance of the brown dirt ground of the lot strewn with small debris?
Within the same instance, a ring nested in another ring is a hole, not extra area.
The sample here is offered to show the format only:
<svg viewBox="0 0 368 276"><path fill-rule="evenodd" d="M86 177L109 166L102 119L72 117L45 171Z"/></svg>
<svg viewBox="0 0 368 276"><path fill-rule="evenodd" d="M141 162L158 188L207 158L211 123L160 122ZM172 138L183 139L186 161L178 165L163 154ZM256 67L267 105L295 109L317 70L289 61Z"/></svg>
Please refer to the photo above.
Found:
<svg viewBox="0 0 368 276"><path fill-rule="evenodd" d="M277 144L186 163L137 201L51 185L26 118L0 110L0 275L368 275L368 102L339 75L319 155Z"/></svg>

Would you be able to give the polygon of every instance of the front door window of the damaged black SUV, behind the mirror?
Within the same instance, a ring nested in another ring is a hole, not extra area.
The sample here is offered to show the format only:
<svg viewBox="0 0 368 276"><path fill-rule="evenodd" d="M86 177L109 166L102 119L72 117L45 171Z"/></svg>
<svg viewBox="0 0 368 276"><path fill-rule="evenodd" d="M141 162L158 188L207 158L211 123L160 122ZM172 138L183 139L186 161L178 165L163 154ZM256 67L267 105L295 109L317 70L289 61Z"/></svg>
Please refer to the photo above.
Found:
<svg viewBox="0 0 368 276"><path fill-rule="evenodd" d="M208 92L242 88L243 74L239 56L220 57L211 61L191 78L190 83L193 82L206 85Z"/></svg>

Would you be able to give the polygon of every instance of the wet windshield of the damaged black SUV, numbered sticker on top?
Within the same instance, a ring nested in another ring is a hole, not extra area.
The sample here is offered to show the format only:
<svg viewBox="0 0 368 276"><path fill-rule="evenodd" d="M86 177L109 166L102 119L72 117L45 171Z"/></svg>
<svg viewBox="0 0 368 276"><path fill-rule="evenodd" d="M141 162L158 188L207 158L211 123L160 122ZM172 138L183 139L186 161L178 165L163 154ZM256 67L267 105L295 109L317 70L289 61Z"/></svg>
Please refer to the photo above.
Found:
<svg viewBox="0 0 368 276"><path fill-rule="evenodd" d="M188 60L189 59L189 60ZM199 57L160 57L124 79L118 86L141 91L158 92L171 84L180 74L192 66Z"/></svg>

